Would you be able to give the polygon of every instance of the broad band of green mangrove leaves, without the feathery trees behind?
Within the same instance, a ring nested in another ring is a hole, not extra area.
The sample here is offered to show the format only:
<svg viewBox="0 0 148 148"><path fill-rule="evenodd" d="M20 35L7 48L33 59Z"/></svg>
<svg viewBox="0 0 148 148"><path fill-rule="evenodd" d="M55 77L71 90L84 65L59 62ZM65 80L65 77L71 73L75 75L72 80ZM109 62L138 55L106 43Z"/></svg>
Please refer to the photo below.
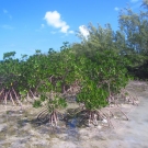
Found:
<svg viewBox="0 0 148 148"><path fill-rule="evenodd" d="M33 106L38 107L47 101L48 111L52 112L66 107L66 101L59 94L65 92L66 86L78 81L81 91L77 101L88 110L104 107L110 93L118 93L127 84L125 67L128 60L111 49L95 50L93 56L82 54L79 57L71 50L65 43L60 53L50 49L48 55L44 55L36 50L29 58L22 56L21 60L4 60L0 66L7 67L2 69L9 72L4 71L7 81L3 81L3 86L11 89L13 83L22 99L32 96L32 93L38 94L39 100ZM56 95L50 98L53 92Z"/></svg>

